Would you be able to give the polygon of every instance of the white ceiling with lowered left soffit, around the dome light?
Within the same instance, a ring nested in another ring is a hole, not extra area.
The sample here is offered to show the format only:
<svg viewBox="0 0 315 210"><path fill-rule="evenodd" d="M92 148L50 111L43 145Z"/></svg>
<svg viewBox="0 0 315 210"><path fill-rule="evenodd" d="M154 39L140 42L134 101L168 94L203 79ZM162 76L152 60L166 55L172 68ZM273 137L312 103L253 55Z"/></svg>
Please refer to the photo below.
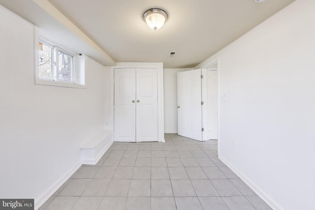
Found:
<svg viewBox="0 0 315 210"><path fill-rule="evenodd" d="M48 0L105 56L34 1L0 0L0 4L37 25L47 39L56 40L53 31L63 31L63 40L75 46L73 51L104 65L113 63L107 54L117 62L163 62L165 68L182 68L206 60L294 0ZM156 31L142 20L151 7L163 8L169 15ZM176 56L169 58L170 51L177 51Z"/></svg>

